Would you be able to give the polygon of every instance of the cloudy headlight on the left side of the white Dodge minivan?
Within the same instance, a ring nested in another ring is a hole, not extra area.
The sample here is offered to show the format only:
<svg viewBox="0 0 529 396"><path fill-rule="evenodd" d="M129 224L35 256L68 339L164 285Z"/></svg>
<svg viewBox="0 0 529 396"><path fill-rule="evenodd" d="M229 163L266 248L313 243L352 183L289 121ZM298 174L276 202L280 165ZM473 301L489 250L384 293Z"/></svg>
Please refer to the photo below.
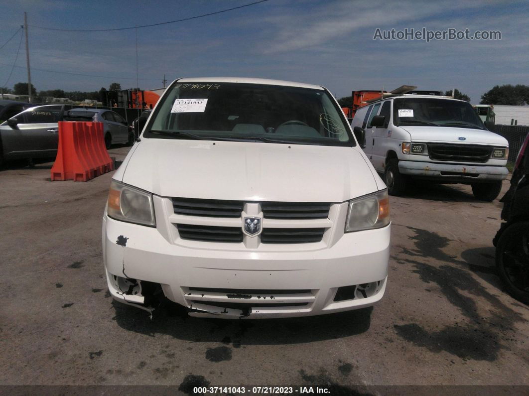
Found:
<svg viewBox="0 0 529 396"><path fill-rule="evenodd" d="M122 222L156 226L152 194L115 180L110 183L107 214Z"/></svg>

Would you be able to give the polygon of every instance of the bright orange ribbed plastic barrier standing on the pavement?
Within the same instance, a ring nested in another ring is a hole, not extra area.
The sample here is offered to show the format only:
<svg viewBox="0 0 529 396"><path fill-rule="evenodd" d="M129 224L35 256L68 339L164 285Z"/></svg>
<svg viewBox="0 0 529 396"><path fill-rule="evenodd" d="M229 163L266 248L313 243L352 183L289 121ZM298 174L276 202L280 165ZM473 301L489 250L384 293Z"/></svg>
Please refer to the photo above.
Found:
<svg viewBox="0 0 529 396"><path fill-rule="evenodd" d="M59 148L51 180L88 181L114 170L101 122L59 122Z"/></svg>

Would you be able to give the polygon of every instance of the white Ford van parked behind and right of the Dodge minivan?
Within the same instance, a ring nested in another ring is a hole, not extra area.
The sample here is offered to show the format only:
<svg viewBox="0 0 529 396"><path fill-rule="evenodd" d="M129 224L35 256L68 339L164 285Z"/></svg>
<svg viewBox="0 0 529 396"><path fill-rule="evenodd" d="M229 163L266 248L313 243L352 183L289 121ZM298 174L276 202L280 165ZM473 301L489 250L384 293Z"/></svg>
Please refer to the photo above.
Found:
<svg viewBox="0 0 529 396"><path fill-rule="evenodd" d="M492 201L507 178L507 140L464 100L396 95L358 109L351 126L366 131L364 152L390 195L413 178L470 184L476 198Z"/></svg>

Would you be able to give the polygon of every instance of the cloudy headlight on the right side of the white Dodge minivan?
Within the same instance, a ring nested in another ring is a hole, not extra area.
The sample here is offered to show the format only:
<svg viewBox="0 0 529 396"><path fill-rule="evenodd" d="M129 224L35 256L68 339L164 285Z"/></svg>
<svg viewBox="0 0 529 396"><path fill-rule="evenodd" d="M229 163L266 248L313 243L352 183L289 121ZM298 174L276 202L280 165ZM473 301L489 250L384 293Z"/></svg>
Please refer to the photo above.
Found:
<svg viewBox="0 0 529 396"><path fill-rule="evenodd" d="M377 191L349 201L345 232L381 228L389 224L388 190Z"/></svg>

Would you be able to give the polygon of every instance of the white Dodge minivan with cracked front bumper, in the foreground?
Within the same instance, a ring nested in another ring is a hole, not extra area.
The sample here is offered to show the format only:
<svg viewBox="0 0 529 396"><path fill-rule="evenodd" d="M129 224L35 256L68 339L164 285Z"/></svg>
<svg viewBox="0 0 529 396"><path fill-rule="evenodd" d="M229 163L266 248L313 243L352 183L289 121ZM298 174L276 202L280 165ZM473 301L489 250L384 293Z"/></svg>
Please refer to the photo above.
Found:
<svg viewBox="0 0 529 396"><path fill-rule="evenodd" d="M113 176L112 296L222 318L373 305L386 289L389 202L357 134L321 86L174 81Z"/></svg>

